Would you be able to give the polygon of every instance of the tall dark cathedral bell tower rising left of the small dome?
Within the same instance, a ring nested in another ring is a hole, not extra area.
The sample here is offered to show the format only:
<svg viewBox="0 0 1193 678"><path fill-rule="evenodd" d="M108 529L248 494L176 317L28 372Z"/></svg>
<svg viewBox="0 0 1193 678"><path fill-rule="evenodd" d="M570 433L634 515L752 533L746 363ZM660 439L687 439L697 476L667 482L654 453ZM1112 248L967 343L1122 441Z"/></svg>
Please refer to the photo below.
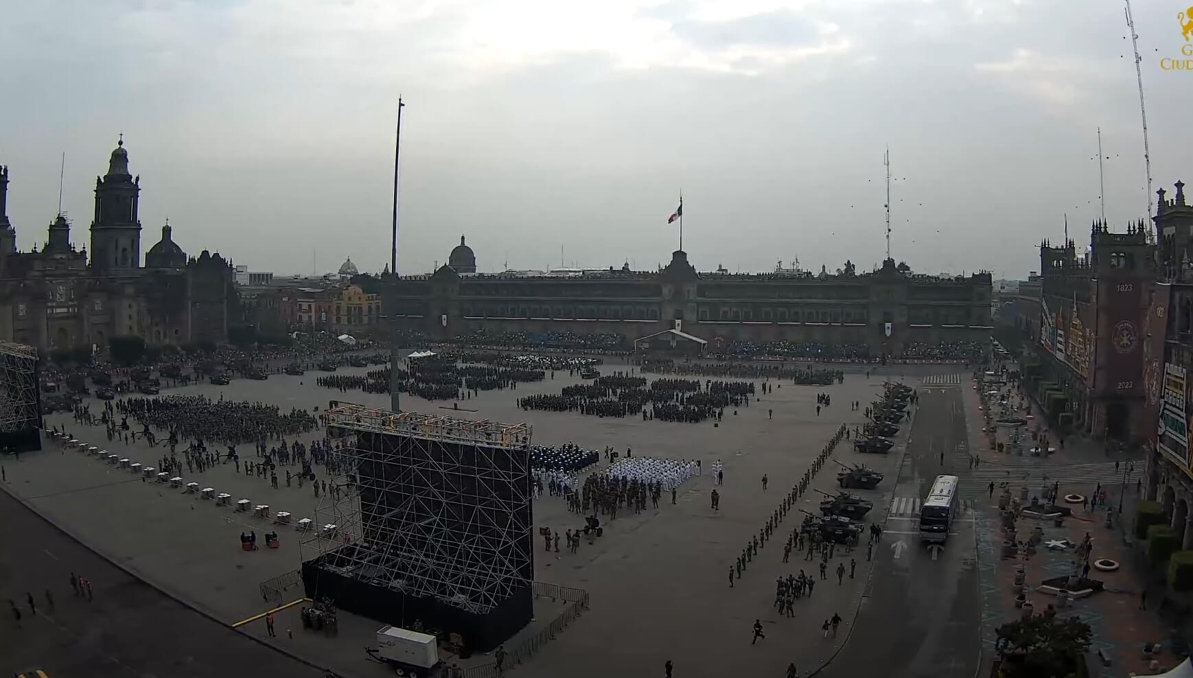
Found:
<svg viewBox="0 0 1193 678"><path fill-rule="evenodd" d="M104 273L128 273L141 267L141 222L137 199L141 177L129 173L124 137L107 162L107 174L95 178L95 216L91 222L92 266Z"/></svg>

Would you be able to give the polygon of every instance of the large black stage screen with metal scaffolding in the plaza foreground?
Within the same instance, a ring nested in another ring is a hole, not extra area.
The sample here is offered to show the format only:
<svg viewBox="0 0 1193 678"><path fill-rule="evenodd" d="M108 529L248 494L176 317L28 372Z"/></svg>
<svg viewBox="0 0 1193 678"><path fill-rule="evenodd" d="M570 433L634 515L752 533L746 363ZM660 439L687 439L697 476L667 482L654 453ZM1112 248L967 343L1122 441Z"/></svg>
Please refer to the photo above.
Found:
<svg viewBox="0 0 1193 678"><path fill-rule="evenodd" d="M324 493L303 542L307 596L459 634L474 652L530 623L530 425L334 401L326 414L348 440L334 480L346 491Z"/></svg>

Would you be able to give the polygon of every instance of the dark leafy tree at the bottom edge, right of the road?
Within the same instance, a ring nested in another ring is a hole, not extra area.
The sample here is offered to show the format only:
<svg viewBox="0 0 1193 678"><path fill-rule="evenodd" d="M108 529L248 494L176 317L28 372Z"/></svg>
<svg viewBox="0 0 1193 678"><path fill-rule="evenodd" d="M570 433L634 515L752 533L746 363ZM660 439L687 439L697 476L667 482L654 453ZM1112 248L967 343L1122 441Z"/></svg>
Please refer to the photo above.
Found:
<svg viewBox="0 0 1193 678"><path fill-rule="evenodd" d="M995 649L1005 678L1067 678L1089 647L1089 624L1055 614L1020 617L999 627Z"/></svg>

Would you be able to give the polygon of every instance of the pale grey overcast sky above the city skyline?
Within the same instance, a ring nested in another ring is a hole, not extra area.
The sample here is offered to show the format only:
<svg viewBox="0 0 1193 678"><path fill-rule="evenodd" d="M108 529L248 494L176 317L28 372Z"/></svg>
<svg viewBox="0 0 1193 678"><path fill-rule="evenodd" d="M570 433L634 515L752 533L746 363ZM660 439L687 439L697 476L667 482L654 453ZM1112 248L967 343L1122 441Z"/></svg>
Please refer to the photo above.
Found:
<svg viewBox="0 0 1193 678"><path fill-rule="evenodd" d="M1160 67L1189 44L1187 1L1135 2L1169 195L1193 183L1193 72ZM482 271L654 269L680 191L699 270L869 269L885 144L891 251L921 272L1026 276L1065 212L1083 246L1099 127L1107 221L1148 209L1117 0L43 0L5 6L0 45L23 249L54 218L62 152L87 244L123 131L143 249L168 217L188 253L252 270L379 271L398 94L402 273L460 235Z"/></svg>

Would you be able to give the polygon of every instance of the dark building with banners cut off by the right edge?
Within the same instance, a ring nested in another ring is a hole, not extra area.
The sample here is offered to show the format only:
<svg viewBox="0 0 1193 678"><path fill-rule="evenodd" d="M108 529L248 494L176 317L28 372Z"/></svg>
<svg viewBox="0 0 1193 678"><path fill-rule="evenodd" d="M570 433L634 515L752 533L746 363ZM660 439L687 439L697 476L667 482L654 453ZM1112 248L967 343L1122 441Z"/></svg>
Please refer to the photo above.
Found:
<svg viewBox="0 0 1193 678"><path fill-rule="evenodd" d="M1155 285L1143 328L1143 382L1149 454L1144 498L1162 503L1182 550L1193 549L1193 205L1185 185L1157 191Z"/></svg>

